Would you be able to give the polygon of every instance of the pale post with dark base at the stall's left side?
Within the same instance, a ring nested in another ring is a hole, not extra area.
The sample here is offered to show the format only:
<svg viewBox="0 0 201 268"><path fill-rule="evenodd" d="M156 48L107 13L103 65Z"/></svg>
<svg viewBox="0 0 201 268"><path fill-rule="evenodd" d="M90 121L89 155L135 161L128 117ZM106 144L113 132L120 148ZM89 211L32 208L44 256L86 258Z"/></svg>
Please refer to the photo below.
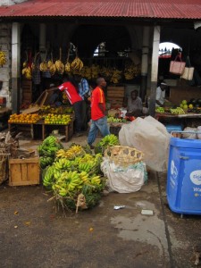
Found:
<svg viewBox="0 0 201 268"><path fill-rule="evenodd" d="M21 24L12 25L12 108L20 113L20 74L21 74Z"/></svg>

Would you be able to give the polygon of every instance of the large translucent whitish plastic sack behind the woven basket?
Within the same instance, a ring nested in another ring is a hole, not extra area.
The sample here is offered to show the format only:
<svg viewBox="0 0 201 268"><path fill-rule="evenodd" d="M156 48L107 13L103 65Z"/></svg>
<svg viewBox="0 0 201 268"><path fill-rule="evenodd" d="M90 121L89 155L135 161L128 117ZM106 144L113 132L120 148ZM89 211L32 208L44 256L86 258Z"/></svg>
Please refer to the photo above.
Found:
<svg viewBox="0 0 201 268"><path fill-rule="evenodd" d="M167 171L170 137L164 125L151 116L138 117L119 132L121 146L142 151L145 163L156 172Z"/></svg>

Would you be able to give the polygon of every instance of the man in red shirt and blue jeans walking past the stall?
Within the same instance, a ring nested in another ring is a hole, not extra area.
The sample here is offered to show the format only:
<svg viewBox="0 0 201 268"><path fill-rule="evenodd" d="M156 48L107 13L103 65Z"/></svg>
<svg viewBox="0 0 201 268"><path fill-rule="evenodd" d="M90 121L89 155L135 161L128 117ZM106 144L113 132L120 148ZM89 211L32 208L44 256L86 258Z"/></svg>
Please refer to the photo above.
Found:
<svg viewBox="0 0 201 268"><path fill-rule="evenodd" d="M91 126L88 132L88 145L90 148L96 139L97 132L100 130L103 137L110 134L105 116L105 94L106 81L100 77L96 80L97 87L92 91L91 96Z"/></svg>

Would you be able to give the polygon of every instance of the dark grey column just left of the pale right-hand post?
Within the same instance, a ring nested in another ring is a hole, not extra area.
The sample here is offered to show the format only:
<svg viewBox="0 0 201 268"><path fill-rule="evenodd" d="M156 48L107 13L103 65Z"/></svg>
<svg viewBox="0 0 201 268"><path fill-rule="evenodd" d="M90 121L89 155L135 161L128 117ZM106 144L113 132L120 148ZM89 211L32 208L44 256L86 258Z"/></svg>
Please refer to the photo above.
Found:
<svg viewBox="0 0 201 268"><path fill-rule="evenodd" d="M145 26L143 27L141 85L140 85L140 96L143 102L145 101L145 96L147 94L148 50L149 50L149 27Z"/></svg>

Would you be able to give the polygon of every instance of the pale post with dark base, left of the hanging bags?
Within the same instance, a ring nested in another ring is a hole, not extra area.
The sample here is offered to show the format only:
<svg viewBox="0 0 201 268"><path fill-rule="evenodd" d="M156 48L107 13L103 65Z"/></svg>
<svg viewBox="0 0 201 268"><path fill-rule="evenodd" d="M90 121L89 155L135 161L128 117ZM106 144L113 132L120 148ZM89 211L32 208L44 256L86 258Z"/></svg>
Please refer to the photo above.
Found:
<svg viewBox="0 0 201 268"><path fill-rule="evenodd" d="M152 70L151 70L151 94L149 101L149 114L155 117L155 94L158 79L158 51L160 44L161 27L155 26L152 52Z"/></svg>

